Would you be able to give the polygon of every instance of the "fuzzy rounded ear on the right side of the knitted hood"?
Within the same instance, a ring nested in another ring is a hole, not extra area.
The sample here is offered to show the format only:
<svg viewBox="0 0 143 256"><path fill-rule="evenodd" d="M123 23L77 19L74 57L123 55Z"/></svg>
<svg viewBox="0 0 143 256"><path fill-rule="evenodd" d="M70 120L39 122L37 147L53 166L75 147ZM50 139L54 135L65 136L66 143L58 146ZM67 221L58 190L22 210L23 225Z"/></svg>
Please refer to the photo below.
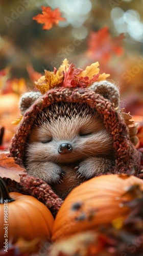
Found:
<svg viewBox="0 0 143 256"><path fill-rule="evenodd" d="M115 108L117 108L119 105L120 91L113 83L107 80L94 82L92 86L89 87L89 89L109 99L114 103Z"/></svg>

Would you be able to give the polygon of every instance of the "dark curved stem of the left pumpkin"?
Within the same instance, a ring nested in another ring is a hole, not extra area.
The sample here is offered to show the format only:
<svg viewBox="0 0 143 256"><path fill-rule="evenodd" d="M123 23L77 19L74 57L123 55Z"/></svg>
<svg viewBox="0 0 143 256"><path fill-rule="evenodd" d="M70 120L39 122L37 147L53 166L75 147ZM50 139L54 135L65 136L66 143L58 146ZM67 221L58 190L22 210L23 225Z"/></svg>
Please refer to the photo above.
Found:
<svg viewBox="0 0 143 256"><path fill-rule="evenodd" d="M6 182L0 177L0 204L4 204L5 201L10 203L15 200L10 197Z"/></svg>

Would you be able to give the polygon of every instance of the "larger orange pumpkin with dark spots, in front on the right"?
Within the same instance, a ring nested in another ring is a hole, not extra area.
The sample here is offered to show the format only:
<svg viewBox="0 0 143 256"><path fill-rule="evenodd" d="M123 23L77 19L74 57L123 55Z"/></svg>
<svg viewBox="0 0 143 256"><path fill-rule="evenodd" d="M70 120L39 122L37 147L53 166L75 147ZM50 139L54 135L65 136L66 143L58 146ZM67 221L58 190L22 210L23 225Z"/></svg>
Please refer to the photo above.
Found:
<svg viewBox="0 0 143 256"><path fill-rule="evenodd" d="M58 211L53 240L77 232L98 230L102 225L115 223L117 218L122 222L130 212L124 202L133 199L133 193L127 193L132 185L139 185L143 190L141 179L127 175L100 176L74 188Z"/></svg>

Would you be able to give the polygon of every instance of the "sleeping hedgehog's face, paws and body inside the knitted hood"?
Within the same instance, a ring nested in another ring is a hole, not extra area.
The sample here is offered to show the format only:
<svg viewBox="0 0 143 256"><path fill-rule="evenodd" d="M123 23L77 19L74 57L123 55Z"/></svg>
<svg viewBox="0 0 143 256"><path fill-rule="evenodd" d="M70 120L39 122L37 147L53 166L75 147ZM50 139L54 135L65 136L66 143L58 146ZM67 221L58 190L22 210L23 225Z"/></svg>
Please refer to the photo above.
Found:
<svg viewBox="0 0 143 256"><path fill-rule="evenodd" d="M28 174L51 184L62 199L113 165L113 140L87 104L54 103L40 112L27 140Z"/></svg>

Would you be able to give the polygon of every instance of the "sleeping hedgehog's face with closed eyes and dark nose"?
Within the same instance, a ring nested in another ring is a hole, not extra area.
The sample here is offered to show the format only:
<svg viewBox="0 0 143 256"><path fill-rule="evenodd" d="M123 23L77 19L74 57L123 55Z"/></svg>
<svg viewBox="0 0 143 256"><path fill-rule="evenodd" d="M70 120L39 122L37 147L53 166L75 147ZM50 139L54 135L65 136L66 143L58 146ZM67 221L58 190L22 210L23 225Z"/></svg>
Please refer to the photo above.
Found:
<svg viewBox="0 0 143 256"><path fill-rule="evenodd" d="M63 105L60 106L60 111L64 114L56 118L50 118L53 110L40 113L27 146L27 156L31 161L67 164L90 156L111 155L112 138L106 131L101 117L89 109L74 113L75 109L68 109L69 104L67 103L66 110L63 110ZM74 108L77 109L76 104Z"/></svg>

